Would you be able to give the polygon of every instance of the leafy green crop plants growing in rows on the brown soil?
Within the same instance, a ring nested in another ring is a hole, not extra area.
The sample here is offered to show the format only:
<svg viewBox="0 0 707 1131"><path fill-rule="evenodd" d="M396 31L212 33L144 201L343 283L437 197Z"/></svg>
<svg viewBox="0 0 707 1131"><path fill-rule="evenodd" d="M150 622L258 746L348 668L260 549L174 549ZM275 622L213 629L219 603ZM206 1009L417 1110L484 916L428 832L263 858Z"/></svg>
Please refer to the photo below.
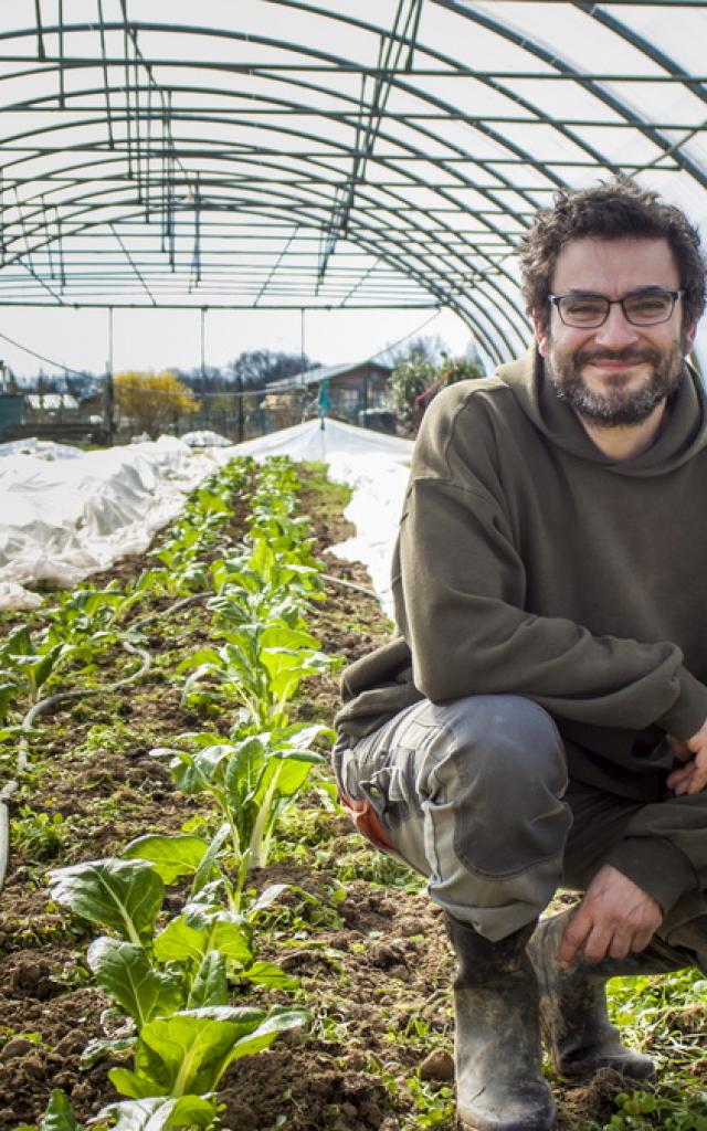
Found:
<svg viewBox="0 0 707 1131"><path fill-rule="evenodd" d="M253 480L244 543L221 544L232 513L225 497L242 495ZM53 900L102 932L87 961L111 1005L102 1018L105 1036L86 1050L85 1061L119 1059L109 1077L126 1098L104 1108L98 1120L114 1121L120 1131L209 1126L229 1065L309 1017L287 1004L269 1010L231 1004L234 987L238 993L248 985L286 992L296 985L258 957L259 921L284 886L257 896L247 878L267 863L279 815L325 762L322 750L331 737L325 726L291 717L301 681L336 663L307 630L312 602L321 595L321 568L312 556L308 519L296 513L296 490L288 460L270 460L257 473L242 463L226 468L195 493L156 551L158 564L135 586L122 593L111 586L87 588L62 598L41 638L29 637L32 651L17 649L26 630L8 641L7 667L18 673L12 685L21 689L25 702L36 701L69 656L61 649L74 648L75 662L90 663L90 648L124 640L124 614L138 598L201 593L212 642L176 668L182 703L202 717L236 708L226 734L189 732L152 752L169 761L180 789L210 801L213 815L199 819L198 832L143 836L118 856L50 873ZM222 552L214 554L215 546ZM69 629L62 639L59 625ZM133 622L137 631L139 622ZM33 664L54 655L57 665L41 679ZM32 685L23 685L19 673L32 673ZM17 725L10 715L8 732ZM320 788L330 786L322 779ZM76 1126L59 1091L45 1125Z"/></svg>

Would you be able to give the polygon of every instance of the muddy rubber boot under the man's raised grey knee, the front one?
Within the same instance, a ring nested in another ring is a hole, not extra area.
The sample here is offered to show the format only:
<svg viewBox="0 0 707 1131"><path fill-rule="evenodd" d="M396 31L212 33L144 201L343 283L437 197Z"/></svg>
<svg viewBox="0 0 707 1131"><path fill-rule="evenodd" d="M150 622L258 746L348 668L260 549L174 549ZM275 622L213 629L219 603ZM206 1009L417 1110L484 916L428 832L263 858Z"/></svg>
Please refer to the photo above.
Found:
<svg viewBox="0 0 707 1131"><path fill-rule="evenodd" d="M551 1131L555 1108L541 1076L538 992L525 948L535 924L489 942L446 916L454 983L457 1115L475 1131Z"/></svg>

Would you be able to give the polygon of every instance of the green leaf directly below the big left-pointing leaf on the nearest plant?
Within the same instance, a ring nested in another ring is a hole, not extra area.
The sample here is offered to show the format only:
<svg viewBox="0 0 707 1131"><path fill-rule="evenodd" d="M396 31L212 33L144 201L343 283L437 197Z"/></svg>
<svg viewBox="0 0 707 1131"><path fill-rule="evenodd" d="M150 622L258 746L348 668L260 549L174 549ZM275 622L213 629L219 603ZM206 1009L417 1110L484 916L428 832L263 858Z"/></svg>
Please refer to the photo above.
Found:
<svg viewBox="0 0 707 1131"><path fill-rule="evenodd" d="M138 1033L153 1017L174 1013L184 1004L175 978L150 966L143 948L131 942L96 939L87 961L103 992L122 1005Z"/></svg>

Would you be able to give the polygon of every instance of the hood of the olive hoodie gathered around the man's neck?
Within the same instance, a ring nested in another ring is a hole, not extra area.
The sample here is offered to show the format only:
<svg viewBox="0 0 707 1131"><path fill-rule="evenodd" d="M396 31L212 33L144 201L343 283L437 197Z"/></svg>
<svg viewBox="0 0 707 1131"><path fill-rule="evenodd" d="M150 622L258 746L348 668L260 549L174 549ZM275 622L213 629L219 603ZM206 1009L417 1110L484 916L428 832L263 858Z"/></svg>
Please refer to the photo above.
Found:
<svg viewBox="0 0 707 1131"><path fill-rule="evenodd" d="M707 412L699 377L687 362L683 380L670 399L670 418L650 448L635 459L614 460L593 443L575 411L561 400L545 377L533 345L525 357L500 365L497 378L514 394L520 408L552 443L580 459L603 464L618 475L664 475L707 446Z"/></svg>

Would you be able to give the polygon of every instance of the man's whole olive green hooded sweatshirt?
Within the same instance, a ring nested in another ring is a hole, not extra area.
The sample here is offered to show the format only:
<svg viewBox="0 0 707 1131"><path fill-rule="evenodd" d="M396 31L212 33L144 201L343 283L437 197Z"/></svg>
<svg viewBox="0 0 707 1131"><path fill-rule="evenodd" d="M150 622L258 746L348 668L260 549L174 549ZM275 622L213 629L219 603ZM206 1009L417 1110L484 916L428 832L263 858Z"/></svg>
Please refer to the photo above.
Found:
<svg viewBox="0 0 707 1131"><path fill-rule="evenodd" d="M707 414L692 370L656 442L612 461L535 349L429 408L393 564L399 636L344 674L352 740L422 697L519 694L570 776L659 796L665 734L707 718Z"/></svg>

